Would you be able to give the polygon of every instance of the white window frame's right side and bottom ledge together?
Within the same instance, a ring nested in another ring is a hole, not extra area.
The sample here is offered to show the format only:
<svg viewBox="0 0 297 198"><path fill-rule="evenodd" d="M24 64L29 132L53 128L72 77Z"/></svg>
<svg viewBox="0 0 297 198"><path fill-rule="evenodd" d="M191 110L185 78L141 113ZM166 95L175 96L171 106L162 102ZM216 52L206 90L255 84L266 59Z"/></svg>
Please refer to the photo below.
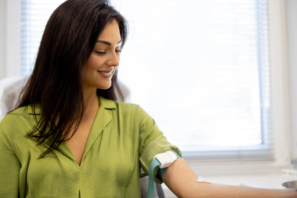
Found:
<svg viewBox="0 0 297 198"><path fill-rule="evenodd" d="M280 172L293 157L288 61L287 2L268 0L274 159L187 160L196 174L264 174Z"/></svg>

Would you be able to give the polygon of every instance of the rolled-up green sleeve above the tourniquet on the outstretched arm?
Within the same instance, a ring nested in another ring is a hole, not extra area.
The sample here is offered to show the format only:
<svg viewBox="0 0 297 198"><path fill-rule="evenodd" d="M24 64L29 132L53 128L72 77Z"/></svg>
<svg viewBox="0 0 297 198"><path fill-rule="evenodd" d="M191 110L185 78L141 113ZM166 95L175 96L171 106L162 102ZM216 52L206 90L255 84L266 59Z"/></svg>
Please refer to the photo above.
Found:
<svg viewBox="0 0 297 198"><path fill-rule="evenodd" d="M140 132L140 162L141 167L148 174L152 158L162 152L172 150L181 156L181 151L171 145L163 133L157 127L155 121L140 106L138 108L139 132ZM157 170L154 169L153 177L156 183L161 184L162 178L156 177Z"/></svg>

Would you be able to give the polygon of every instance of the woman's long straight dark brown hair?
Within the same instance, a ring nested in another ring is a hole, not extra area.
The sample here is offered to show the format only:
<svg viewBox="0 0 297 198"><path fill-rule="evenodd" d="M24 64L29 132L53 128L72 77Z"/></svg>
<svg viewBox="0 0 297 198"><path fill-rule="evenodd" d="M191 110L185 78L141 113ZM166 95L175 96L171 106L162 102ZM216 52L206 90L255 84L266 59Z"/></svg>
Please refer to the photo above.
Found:
<svg viewBox="0 0 297 198"><path fill-rule="evenodd" d="M128 34L127 22L108 0L66 0L50 16L35 67L16 107L31 104L35 111L40 103L41 115L35 116L37 123L27 134L37 138L39 144L50 139L49 148L40 157L69 140L70 131L77 131L84 109L82 69L99 34L112 19L119 25L122 49ZM97 95L124 100L117 71L111 87L98 89Z"/></svg>

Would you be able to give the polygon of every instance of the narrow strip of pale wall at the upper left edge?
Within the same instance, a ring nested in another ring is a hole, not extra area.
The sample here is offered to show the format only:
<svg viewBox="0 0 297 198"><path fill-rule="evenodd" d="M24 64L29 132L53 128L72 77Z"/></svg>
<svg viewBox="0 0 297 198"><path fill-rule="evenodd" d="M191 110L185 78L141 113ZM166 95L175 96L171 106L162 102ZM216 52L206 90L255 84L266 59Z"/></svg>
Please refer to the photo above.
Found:
<svg viewBox="0 0 297 198"><path fill-rule="evenodd" d="M6 76L6 0L0 0L0 80Z"/></svg>

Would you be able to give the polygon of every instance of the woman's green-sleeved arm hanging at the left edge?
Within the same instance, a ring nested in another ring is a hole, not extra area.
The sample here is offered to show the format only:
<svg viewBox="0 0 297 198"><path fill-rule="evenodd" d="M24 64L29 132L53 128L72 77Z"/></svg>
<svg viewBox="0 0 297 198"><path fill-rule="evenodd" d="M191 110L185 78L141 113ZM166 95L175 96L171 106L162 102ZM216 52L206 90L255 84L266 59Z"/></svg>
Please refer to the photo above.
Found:
<svg viewBox="0 0 297 198"><path fill-rule="evenodd" d="M0 198L17 198L21 164L0 125Z"/></svg>

